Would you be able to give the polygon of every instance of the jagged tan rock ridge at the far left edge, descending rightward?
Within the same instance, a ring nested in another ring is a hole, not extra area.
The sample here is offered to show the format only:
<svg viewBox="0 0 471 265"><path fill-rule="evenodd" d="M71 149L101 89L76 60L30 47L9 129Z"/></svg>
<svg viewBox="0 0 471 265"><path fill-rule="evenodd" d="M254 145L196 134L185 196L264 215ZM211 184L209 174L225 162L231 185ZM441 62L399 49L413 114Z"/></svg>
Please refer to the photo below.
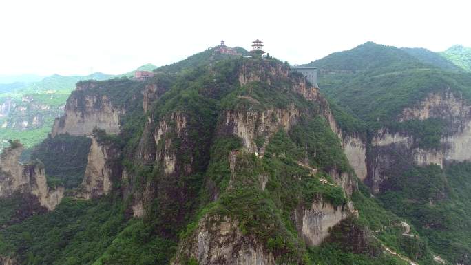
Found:
<svg viewBox="0 0 471 265"><path fill-rule="evenodd" d="M63 187L48 187L41 162L21 165L18 160L22 151L23 146L14 143L0 155L0 197L9 197L15 192L30 193L38 198L41 206L53 210L63 198Z"/></svg>

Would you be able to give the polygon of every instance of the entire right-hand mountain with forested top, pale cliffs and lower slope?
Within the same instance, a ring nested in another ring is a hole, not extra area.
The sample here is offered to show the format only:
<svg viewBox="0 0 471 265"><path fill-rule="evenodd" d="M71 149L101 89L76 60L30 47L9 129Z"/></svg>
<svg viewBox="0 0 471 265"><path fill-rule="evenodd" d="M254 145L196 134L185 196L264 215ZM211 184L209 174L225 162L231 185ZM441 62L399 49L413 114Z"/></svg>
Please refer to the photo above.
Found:
<svg viewBox="0 0 471 265"><path fill-rule="evenodd" d="M404 54L378 57L372 68L339 72L360 65L358 47L320 60L318 82L344 112L366 127L368 176L364 183L382 205L410 220L435 253L454 264L470 264L471 234L468 174L471 160L471 74L423 67ZM377 45L370 54L390 47ZM391 61L393 60L393 61ZM395 61L394 61L395 60ZM313 63L316 64L316 63ZM342 65L344 64L344 65ZM335 113L334 113L335 114ZM353 132L355 134L355 132ZM457 155L457 152L462 152ZM461 183L461 184L457 184Z"/></svg>

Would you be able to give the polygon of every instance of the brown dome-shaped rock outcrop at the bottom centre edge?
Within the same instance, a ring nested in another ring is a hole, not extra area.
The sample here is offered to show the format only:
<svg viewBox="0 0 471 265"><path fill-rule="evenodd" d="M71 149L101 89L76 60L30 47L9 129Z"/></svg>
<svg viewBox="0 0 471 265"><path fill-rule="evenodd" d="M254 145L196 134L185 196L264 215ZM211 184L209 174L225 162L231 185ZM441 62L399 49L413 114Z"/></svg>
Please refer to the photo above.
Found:
<svg viewBox="0 0 471 265"><path fill-rule="evenodd" d="M243 235L239 223L230 218L206 216L185 244L180 244L174 265L196 259L200 265L274 265L273 255L250 235Z"/></svg>

